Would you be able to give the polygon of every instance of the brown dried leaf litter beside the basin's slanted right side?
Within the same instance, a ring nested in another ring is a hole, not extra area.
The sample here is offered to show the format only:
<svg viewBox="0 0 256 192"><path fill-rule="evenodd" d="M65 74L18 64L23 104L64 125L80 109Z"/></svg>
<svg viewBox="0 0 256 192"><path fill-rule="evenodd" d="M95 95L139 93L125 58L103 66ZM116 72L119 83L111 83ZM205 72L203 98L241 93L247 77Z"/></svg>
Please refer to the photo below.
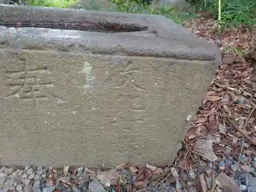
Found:
<svg viewBox="0 0 256 192"><path fill-rule="evenodd" d="M249 51L256 46L254 30L217 33L217 22L204 17L186 21L183 26L209 42L216 42L222 50L230 46ZM248 153L256 146L256 61L246 60L236 52L225 53L222 52L223 62L178 153L176 162L184 168L193 167L199 157L216 161L224 151L239 154L241 139L249 143Z"/></svg>

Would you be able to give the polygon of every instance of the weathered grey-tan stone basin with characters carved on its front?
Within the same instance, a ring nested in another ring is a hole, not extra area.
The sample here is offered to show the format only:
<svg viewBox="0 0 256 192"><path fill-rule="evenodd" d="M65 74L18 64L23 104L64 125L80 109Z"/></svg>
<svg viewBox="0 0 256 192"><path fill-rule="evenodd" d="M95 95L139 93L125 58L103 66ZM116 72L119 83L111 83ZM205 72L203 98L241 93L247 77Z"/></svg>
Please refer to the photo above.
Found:
<svg viewBox="0 0 256 192"><path fill-rule="evenodd" d="M169 163L220 63L163 16L1 5L0 21L7 165Z"/></svg>

